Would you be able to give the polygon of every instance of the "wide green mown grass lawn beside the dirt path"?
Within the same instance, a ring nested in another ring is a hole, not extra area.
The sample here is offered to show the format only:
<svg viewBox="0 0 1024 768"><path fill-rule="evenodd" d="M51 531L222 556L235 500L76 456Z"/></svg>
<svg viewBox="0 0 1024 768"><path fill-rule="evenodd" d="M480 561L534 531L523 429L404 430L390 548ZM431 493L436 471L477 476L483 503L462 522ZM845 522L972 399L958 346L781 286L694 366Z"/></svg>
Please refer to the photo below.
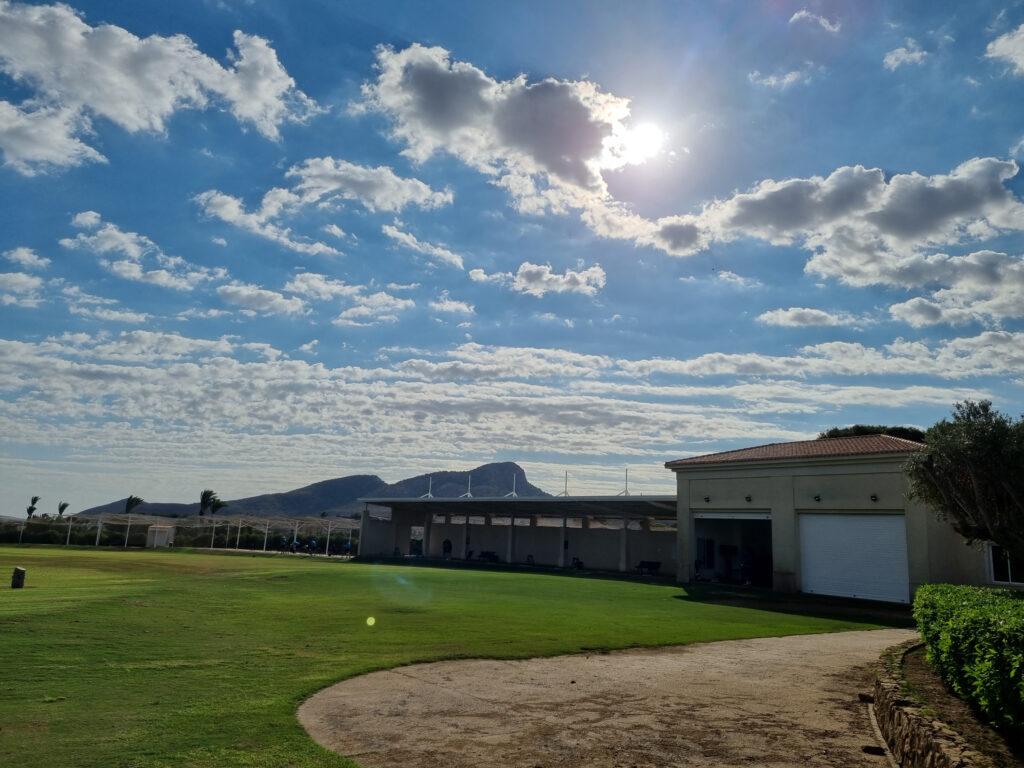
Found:
<svg viewBox="0 0 1024 768"><path fill-rule="evenodd" d="M0 547L0 579L5 768L351 766L295 708L371 670L882 626L666 584L284 555Z"/></svg>

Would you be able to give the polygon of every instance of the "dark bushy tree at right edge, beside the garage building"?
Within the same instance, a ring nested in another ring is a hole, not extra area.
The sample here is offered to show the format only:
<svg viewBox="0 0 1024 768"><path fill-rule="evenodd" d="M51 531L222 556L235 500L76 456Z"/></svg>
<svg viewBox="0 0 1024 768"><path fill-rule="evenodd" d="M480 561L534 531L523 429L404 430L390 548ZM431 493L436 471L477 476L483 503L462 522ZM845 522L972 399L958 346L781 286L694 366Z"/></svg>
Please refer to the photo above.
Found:
<svg viewBox="0 0 1024 768"><path fill-rule="evenodd" d="M911 499L933 507L969 542L991 542L1024 560L1024 417L989 400L957 402L952 420L925 433L903 465Z"/></svg>

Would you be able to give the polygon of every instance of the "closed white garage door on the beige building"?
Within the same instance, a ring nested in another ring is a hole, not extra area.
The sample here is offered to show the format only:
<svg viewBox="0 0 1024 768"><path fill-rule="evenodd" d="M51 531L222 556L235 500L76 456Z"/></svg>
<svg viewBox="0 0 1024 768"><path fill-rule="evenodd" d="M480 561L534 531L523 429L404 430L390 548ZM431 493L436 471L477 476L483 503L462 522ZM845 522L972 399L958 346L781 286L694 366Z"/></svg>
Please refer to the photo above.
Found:
<svg viewBox="0 0 1024 768"><path fill-rule="evenodd" d="M804 592L910 600L903 515L800 515Z"/></svg>

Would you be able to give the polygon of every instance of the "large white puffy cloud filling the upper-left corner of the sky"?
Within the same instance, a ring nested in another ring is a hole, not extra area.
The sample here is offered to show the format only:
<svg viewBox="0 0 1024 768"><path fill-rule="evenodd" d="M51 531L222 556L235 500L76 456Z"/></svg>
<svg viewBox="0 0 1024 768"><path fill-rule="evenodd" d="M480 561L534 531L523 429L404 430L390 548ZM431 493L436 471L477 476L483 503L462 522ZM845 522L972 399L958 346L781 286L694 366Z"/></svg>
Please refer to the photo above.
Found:
<svg viewBox="0 0 1024 768"><path fill-rule="evenodd" d="M0 72L33 94L0 101L5 164L31 175L102 161L85 142L96 118L161 133L175 112L213 104L276 139L319 111L266 40L237 31L233 45L225 67L184 35L139 38L67 5L0 2Z"/></svg>

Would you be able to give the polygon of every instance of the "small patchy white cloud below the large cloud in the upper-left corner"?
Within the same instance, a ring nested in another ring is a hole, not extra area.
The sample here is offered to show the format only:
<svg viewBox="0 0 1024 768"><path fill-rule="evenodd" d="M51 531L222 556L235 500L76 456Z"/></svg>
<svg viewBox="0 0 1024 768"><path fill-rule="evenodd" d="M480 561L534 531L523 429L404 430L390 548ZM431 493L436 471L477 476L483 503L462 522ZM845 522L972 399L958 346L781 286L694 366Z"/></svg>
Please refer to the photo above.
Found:
<svg viewBox="0 0 1024 768"><path fill-rule="evenodd" d="M72 224L90 230L74 238L62 238L61 246L88 251L102 256L99 263L114 274L137 283L175 291L190 291L202 283L223 280L227 271L191 264L180 256L168 256L144 234L121 229L117 224L103 223L95 211L82 211L72 218ZM152 264L155 268L147 268Z"/></svg>

